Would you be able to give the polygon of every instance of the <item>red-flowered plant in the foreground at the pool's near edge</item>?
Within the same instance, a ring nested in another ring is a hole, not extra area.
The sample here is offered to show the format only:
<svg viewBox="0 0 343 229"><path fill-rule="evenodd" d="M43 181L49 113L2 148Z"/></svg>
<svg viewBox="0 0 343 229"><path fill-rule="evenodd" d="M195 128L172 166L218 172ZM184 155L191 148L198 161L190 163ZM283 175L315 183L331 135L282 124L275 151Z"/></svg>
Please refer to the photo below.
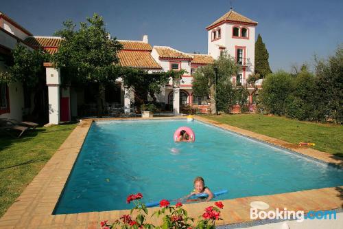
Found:
<svg viewBox="0 0 343 229"><path fill-rule="evenodd" d="M188 217L188 213L182 208L182 203L178 202L175 206L170 206L170 202L167 199L160 201L160 210L157 210L152 214L152 217L156 215L160 217L163 215L163 223L161 226L154 226L150 223L146 223L146 217L148 210L145 204L141 204L139 199L143 198L141 193L131 194L126 198L126 202L130 204L134 202L134 208L130 211L130 215L123 215L119 219L115 220L113 224L109 224L108 220L102 221L100 226L102 229L122 228L122 229L139 229L139 228L185 228L185 229L214 229L215 221L222 220L220 218L220 209L224 208L221 201L215 202L215 206L209 206L204 209L204 214L199 217L198 224L192 226L193 218ZM132 219L132 212L137 211L137 217Z"/></svg>

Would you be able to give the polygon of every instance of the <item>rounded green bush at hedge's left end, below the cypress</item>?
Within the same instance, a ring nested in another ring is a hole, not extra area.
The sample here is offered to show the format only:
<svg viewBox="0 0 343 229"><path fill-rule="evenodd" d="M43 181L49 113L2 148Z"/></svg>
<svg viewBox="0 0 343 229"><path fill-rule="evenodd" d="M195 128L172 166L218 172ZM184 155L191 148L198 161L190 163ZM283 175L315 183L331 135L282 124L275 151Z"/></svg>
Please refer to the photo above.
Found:
<svg viewBox="0 0 343 229"><path fill-rule="evenodd" d="M293 87L291 74L283 71L269 74L263 80L263 89L259 93L261 107L268 113L284 115L285 100L294 91Z"/></svg>

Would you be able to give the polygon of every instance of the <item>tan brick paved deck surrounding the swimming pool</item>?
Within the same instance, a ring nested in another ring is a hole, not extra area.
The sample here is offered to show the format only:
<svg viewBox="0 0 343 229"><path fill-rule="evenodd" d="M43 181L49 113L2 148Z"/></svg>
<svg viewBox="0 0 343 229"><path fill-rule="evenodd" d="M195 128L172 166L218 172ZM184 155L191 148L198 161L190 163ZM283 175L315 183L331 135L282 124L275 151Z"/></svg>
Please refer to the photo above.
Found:
<svg viewBox="0 0 343 229"><path fill-rule="evenodd" d="M173 119L175 117L172 117ZM185 117L178 117L185 118ZM343 161L340 157L335 157L329 153L316 151L310 148L299 147L270 138L265 135L221 124L202 117L195 117L197 120L213 124L216 127L234 131L249 138L256 138L276 146L295 151L297 153L313 157L316 160L327 162L334 166L343 168ZM100 120L142 120L141 118L109 118ZM170 119L170 118L154 118ZM52 215L60 193L67 182L69 173L78 157L88 129L93 120L82 120L72 131L67 140L60 146L58 151L45 164L43 169L34 177L33 181L25 188L23 193L16 199L14 204L8 208L5 215L0 219L0 229L3 228L100 228L100 221L108 219L110 222L119 219L121 215L129 214L130 210L112 210L104 212L85 212L67 215ZM224 209L222 218L218 221L218 226L232 225L234 223L257 223L250 219L250 202L264 201L270 205L268 210L276 208L287 208L287 210L342 210L343 208L343 186L320 188L312 190L301 190L293 193L282 193L276 195L264 195L254 197L243 197L237 199L227 199L222 201ZM214 202L187 204L184 208L189 212L189 216L198 219L202 215L204 208L213 205ZM149 208L150 215L158 208ZM149 217L148 217L149 219ZM151 223L158 223L161 219L150 218Z"/></svg>

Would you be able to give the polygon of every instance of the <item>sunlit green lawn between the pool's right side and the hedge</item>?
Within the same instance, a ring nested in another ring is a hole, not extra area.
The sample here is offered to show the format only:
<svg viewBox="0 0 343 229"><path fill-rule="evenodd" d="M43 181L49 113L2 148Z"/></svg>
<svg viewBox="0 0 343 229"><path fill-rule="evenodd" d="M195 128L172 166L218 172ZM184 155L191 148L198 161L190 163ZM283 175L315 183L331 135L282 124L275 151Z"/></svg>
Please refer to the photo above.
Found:
<svg viewBox="0 0 343 229"><path fill-rule="evenodd" d="M221 116L203 116L210 120L229 124L234 127L261 133L273 138L298 144L314 142L314 149L343 157L343 126L300 122L279 116L260 114L239 114Z"/></svg>

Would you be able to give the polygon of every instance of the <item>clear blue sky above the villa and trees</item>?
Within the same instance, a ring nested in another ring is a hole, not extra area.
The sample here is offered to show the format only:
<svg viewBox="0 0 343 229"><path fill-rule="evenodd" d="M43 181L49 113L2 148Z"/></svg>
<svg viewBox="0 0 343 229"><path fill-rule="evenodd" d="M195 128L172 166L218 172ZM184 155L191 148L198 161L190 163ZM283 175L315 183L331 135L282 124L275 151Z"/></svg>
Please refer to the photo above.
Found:
<svg viewBox="0 0 343 229"><path fill-rule="evenodd" d="M273 72L314 65L343 43L342 0L231 0L233 10L257 21ZM229 0L1 0L0 11L34 35L53 36L62 22L86 21L94 13L121 40L141 40L182 52L207 54L206 26L230 10Z"/></svg>

